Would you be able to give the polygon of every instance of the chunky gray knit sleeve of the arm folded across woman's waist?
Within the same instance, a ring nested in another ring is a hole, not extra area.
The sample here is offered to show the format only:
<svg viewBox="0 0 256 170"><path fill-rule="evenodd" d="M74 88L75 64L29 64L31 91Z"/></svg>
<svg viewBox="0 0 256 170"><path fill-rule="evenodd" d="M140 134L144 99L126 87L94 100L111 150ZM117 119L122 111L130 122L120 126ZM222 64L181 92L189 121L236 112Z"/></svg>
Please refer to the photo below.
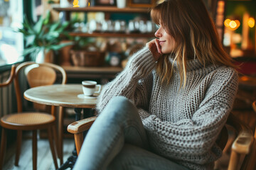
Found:
<svg viewBox="0 0 256 170"><path fill-rule="evenodd" d="M191 119L169 123L156 118L156 115L149 115L143 120L156 153L197 164L216 159L213 147L233 107L238 75L232 69L228 73L219 72L212 79L205 98ZM210 149L213 154L209 154Z"/></svg>

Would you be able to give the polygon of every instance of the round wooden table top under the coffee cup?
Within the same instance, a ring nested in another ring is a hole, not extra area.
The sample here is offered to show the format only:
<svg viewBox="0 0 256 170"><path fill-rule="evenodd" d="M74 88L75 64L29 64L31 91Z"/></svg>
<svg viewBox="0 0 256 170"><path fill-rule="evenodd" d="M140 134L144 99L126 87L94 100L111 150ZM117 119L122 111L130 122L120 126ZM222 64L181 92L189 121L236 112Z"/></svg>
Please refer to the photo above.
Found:
<svg viewBox="0 0 256 170"><path fill-rule="evenodd" d="M36 103L70 108L95 108L99 94L85 98L82 95L82 84L38 86L24 92L26 100Z"/></svg>

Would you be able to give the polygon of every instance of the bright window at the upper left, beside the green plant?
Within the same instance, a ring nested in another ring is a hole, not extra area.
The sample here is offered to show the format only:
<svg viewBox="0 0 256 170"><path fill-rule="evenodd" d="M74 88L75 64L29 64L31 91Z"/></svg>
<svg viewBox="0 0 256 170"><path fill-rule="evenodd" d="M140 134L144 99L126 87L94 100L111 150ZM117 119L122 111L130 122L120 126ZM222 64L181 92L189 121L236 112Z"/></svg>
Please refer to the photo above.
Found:
<svg viewBox="0 0 256 170"><path fill-rule="evenodd" d="M23 1L0 0L0 67L23 61Z"/></svg>

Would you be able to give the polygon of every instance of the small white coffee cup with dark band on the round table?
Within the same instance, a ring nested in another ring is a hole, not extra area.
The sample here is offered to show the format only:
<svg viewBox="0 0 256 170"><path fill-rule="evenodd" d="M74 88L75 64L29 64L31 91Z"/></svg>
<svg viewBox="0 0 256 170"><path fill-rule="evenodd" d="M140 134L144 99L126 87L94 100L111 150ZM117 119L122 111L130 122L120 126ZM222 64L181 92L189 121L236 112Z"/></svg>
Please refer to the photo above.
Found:
<svg viewBox="0 0 256 170"><path fill-rule="evenodd" d="M99 87L98 91L96 91L96 87ZM94 93L100 93L101 86L97 84L97 81L82 81L82 91L85 96L92 96Z"/></svg>

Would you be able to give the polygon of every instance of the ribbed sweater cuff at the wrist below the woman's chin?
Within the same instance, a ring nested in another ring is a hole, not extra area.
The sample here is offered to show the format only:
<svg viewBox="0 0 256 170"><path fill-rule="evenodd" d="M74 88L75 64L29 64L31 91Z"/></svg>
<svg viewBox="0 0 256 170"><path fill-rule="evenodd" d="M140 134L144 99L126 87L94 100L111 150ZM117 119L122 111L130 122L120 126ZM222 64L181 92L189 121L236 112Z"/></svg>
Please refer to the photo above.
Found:
<svg viewBox="0 0 256 170"><path fill-rule="evenodd" d="M127 69L132 70L135 74L139 74L139 78L146 77L154 67L156 61L149 50L149 47L144 47L139 52L135 53L127 63Z"/></svg>

